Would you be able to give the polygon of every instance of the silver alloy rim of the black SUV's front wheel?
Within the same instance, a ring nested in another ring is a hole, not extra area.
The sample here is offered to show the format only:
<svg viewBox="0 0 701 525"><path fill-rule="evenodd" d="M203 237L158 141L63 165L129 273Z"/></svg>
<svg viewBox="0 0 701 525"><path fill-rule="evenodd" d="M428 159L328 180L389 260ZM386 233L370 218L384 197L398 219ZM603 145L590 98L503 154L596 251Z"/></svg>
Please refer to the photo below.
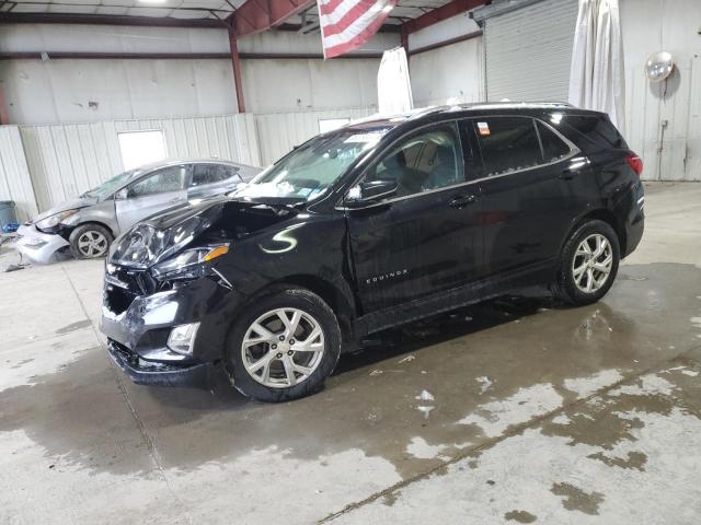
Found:
<svg viewBox="0 0 701 525"><path fill-rule="evenodd" d="M319 322L299 308L277 308L249 326L241 343L246 372L272 388L298 385L317 370L324 353Z"/></svg>

